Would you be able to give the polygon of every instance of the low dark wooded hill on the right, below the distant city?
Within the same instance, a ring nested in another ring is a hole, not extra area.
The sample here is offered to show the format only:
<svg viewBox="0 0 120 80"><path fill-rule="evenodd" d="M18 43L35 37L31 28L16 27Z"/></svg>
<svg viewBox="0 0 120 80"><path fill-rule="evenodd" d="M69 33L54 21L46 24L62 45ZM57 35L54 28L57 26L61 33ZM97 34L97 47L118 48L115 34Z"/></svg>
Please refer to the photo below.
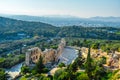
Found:
<svg viewBox="0 0 120 80"><path fill-rule="evenodd" d="M78 38L93 38L93 39L108 39L120 40L119 28L112 27L82 27L70 26L62 27L59 32L61 37L78 37Z"/></svg>

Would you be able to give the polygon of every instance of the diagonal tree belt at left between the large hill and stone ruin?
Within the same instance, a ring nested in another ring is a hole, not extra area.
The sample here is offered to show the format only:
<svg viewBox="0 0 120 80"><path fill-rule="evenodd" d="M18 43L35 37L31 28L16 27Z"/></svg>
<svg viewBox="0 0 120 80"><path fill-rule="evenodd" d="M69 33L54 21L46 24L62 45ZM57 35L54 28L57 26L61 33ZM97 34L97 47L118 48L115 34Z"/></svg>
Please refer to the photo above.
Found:
<svg viewBox="0 0 120 80"><path fill-rule="evenodd" d="M33 37L31 39L22 39L22 40L13 40L13 41L5 41L0 42L0 54L13 52L17 49L28 48L30 46L34 46L38 42L46 41L45 37ZM26 45L26 46L24 46ZM19 53L19 52L17 52Z"/></svg>

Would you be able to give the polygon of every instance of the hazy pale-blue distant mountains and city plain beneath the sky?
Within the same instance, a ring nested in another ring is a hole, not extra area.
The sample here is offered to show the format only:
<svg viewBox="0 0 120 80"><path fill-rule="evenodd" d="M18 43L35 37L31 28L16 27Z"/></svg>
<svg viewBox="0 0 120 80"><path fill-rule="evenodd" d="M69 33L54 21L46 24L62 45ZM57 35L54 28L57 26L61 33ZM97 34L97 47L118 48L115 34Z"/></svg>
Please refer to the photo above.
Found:
<svg viewBox="0 0 120 80"><path fill-rule="evenodd" d="M57 27L84 26L84 27L120 27L120 17L91 17L79 18L74 16L27 16L27 15L0 15L7 18L43 22Z"/></svg>

